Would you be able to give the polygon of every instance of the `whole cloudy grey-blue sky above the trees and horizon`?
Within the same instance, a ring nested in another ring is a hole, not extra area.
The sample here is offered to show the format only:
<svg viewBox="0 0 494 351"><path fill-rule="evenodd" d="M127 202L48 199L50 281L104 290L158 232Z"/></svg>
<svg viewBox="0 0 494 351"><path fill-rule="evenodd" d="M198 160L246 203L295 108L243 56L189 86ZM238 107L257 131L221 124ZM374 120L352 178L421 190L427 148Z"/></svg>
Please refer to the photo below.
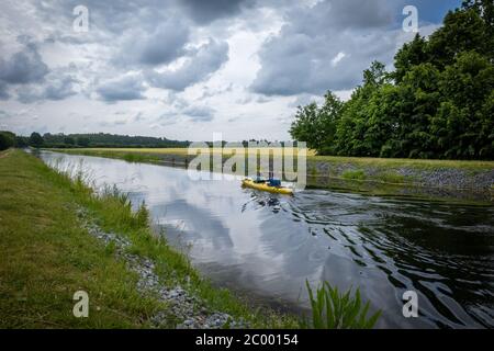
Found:
<svg viewBox="0 0 494 351"><path fill-rule="evenodd" d="M405 5L428 35L460 2L2 0L0 129L289 139L299 104L392 67Z"/></svg>

